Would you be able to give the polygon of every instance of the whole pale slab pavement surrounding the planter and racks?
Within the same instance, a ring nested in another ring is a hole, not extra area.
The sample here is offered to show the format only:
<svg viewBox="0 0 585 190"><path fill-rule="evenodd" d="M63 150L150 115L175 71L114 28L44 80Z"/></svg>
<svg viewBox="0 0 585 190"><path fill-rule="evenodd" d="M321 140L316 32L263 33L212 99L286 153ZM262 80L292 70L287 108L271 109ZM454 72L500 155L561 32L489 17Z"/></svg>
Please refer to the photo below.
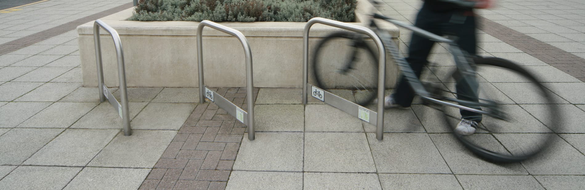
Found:
<svg viewBox="0 0 585 190"><path fill-rule="evenodd" d="M405 21L421 4L386 2L381 12ZM476 159L448 134L432 132L428 118L387 125L378 141L373 126L357 118L302 105L300 89L254 90L257 133L250 141L235 118L199 104L197 88L130 88L134 130L123 136L121 119L99 103L97 89L81 86L73 29L128 3L51 0L0 13L0 189L585 188L580 0L500 0L480 11L481 54L538 73L570 129L540 159L507 165ZM408 38L401 33L403 50ZM441 47L433 51L442 56ZM245 103L244 89L217 90ZM417 107L405 114L417 116ZM541 117L525 110L523 119Z"/></svg>

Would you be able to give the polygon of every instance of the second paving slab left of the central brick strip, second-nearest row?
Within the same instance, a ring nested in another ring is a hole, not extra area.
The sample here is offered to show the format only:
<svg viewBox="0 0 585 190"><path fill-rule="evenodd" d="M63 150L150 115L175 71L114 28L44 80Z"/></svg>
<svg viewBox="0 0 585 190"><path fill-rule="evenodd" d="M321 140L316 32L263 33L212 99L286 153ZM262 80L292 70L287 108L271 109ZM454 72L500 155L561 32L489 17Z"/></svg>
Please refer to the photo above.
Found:
<svg viewBox="0 0 585 190"><path fill-rule="evenodd" d="M84 167L118 132L116 129L67 129L23 164Z"/></svg>

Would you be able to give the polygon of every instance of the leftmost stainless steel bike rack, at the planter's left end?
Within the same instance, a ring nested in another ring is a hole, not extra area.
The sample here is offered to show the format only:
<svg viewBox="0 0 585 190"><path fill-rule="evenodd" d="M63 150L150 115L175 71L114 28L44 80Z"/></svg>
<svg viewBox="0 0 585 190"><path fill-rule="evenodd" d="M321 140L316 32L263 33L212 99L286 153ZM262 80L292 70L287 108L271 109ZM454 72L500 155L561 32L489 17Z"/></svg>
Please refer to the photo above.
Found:
<svg viewBox="0 0 585 190"><path fill-rule="evenodd" d="M113 45L116 48L116 56L118 57L118 78L120 82L120 98L122 104L113 97L113 94L108 90L108 87L104 85L104 68L102 66L102 50L101 43L99 41L99 28L102 28L110 34L113 38ZM94 44L95 44L95 62L98 66L98 89L99 89L99 101L104 102L108 99L109 103L112 104L114 109L118 111L118 115L123 121L123 131L125 136L132 135L132 129L130 129L130 112L128 111L128 92L126 91L126 70L124 66L124 51L122 50L122 42L118 32L108 24L101 20L95 20L94 22Z"/></svg>

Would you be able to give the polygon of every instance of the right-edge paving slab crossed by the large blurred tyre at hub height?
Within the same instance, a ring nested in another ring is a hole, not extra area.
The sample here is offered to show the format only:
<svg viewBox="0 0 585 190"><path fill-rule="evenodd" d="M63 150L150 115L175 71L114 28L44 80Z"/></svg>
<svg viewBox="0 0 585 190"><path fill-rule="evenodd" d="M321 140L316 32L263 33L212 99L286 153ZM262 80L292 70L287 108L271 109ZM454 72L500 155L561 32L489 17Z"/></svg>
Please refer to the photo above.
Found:
<svg viewBox="0 0 585 190"><path fill-rule="evenodd" d="M555 132L559 133L585 133L583 127L583 118L585 118L585 111L579 109L572 104L557 104L555 105L557 114L562 117L560 119L550 120L550 114L543 109L547 108L545 105L539 104L524 104L521 105L531 115L539 119L539 121L547 121L544 124L547 126L554 125L560 129Z"/></svg>

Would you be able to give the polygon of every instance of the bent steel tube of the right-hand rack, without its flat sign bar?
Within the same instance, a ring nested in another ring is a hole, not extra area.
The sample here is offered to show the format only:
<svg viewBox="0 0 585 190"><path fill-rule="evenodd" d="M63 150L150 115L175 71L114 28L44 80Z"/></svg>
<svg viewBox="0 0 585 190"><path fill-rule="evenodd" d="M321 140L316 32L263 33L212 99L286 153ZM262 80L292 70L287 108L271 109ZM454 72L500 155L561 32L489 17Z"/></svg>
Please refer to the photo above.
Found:
<svg viewBox="0 0 585 190"><path fill-rule="evenodd" d="M374 31L367 27L356 26L335 20L315 17L307 22L303 34L303 58L302 58L302 104L307 104L307 83L308 83L308 65L309 65L309 30L313 24L320 23L328 26L338 27L340 29L355 31L366 34L374 40L378 47L378 114L376 122L376 139L382 140L384 138L384 89L386 87L386 50L380 40L380 37Z"/></svg>

